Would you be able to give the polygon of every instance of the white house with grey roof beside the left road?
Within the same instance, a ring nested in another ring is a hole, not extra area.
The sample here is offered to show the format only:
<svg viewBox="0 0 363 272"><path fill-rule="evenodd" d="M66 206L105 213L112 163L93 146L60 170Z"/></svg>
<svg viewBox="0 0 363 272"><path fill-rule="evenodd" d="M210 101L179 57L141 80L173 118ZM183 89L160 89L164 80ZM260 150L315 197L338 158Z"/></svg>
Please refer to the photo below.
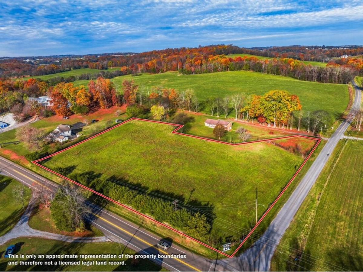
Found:
<svg viewBox="0 0 363 272"><path fill-rule="evenodd" d="M82 128L85 125L86 124L82 122L77 122L73 125L57 125L57 127L46 136L46 139L52 142L58 141L63 143L69 139L78 138L80 136L79 132L82 131Z"/></svg>

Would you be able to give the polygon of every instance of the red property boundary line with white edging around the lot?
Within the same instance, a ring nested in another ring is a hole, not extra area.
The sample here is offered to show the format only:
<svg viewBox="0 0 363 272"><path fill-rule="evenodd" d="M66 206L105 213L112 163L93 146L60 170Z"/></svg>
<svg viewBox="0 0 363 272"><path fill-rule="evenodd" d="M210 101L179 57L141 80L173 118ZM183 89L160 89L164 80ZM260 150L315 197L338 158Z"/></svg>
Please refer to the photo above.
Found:
<svg viewBox="0 0 363 272"><path fill-rule="evenodd" d="M281 193L278 195L278 197L275 199L275 201L274 201L274 202L270 205L270 207L269 207L269 208L265 211L265 213L262 215L262 217L261 217L261 218L257 221L257 224L256 224L256 225L252 228L252 230L249 232L249 234L248 234L248 235L247 235L247 236L246 236L246 237L242 240L241 244L237 247L237 249L233 252L233 254L232 254L232 255L228 255L228 254L226 254L225 252L222 252L222 251L220 251L220 250L217 250L216 248L211 247L211 246L209 246L209 245L207 245L207 244L205 244L205 243L203 243L203 242L201 242L201 241L199 241L199 240L197 240L197 239L195 239L195 238L193 238L193 237L191 237L191 236L189 236L189 235L187 235L187 234L184 234L183 232L178 231L178 230L176 230L175 228L172 228L172 227L170 227L170 226L168 226L168 225L166 225L166 224L163 224L163 223L161 223L161 222L159 222L159 221L155 220L154 218L151 218L151 217L149 217L149 216L147 216L147 215L145 215L145 214L142 214L142 213L140 213L139 211L136 211L136 210L134 210L134 209L132 209L132 208L130 208L130 207L128 207L128 206L126 206L126 205L124 205L124 204L122 204L122 203L118 202L118 201L115 201L115 200L113 200L113 199L111 199L111 198L107 197L106 195L103 195L103 194L101 194L101 193L98 193L97 191L95 191L95 190L93 190L93 189L90 189L89 187L84 186L83 184L80 184L80 183L78 183L78 182L76 182L76 181L74 181L74 180L71 180L70 178L65 177L65 176L63 176L63 175L61 175L61 174L59 174L59 173L57 173L57 172L55 172L55 171L53 171L53 170L51 170L51 169L49 169L49 168L46 168L45 166L43 166L43 165L41 165L41 164L39 164L39 163L38 163L38 162L40 162L40 161L42 161L42 160L45 160L45 159L50 158L50 157L53 157L53 156L55 156L56 154L62 153L62 152L66 151L66 150L68 150L68 149L70 149L70 148L73 148L73 147L75 147L75 146L77 146L77 145L80 145L80 144L82 144L82 143L84 143L84 142L86 142L86 141L89 141L89 140L91 140L91 139L93 139L93 138L95 138L95 137L97 137L97 136L99 136L99 135L102 135L103 133L106 133L107 131L110 131L110 130L112 130L112 129L115 129L115 128L119 127L120 125L125 124L125 123L127 123L127 122L129 122L129 121L131 121L131 120L147 121L147 122L152 122L152 123L159 123L159 124L166 124L166 125L173 125L173 126L177 126L177 128L176 128L176 129L174 129L171 133L178 134L178 135L184 135L184 136L188 136L188 137L193 137L193 138L197 138L197 139L201 139L201 140L207 140L207 141L211 141L211 142L221 143L221 144L227 144L227 145L252 144L252 143L260 143L260 142L266 142L266 141L272 141L272 140L279 140L279 139L286 139L286 138L293 138L293 137L301 137L301 138L306 138L306 139L316 140L316 141L317 141L317 143L314 145L314 147L313 147L313 149L311 150L311 152L309 153L309 155L305 158L305 160L303 161L303 163L301 164L301 166L299 167L299 169L296 171L296 173L294 174L294 176L293 176L293 177L291 178L291 180L287 183L287 185L284 187L284 189L281 191ZM164 227L166 227L166 228L168 228L168 229L170 229L170 230L172 230L172 231L175 231L176 233L178 233L178 234L180 234L180 235L183 235L183 236L185 236L185 237L187 237L187 238L189 238L189 239L191 239L191 240L193 240L193 241L195 241L195 242L197 242L197 243L199 243L199 244L201 244L201 245L203 245L203 246L205 246L205 247L208 247L208 248L210 248L211 250L214 250L214 251L216 251L216 252L218 252L218 253L220 253L220 254L222 254L222 255L224 255L224 256L227 256L227 257L232 258L232 257L233 257L233 256L237 253L237 251L241 248L241 246L242 246L242 245L246 242L246 240L247 240L247 239L249 238L249 236L253 233L253 231L257 228L257 226L261 223L261 221L262 221L262 220L266 217L266 215L269 213L269 211L272 209L272 207L276 204L276 202L278 201L278 199L280 199L280 197L282 196L282 194L284 194L284 192L286 191L287 187L289 187L289 186L290 186L291 182L293 182L293 180L295 179L295 177L297 176L297 174L300 172L301 168L302 168L302 167L306 164L306 162L307 162L307 160L310 158L311 154L313 154L313 152L314 152L314 151L315 151L315 149L317 148L318 144L321 142L321 139L319 139L319 138L315 138L315 137L303 136L303 135L289 135L289 136L283 136L283 137L276 137L276 138L270 138L270 139L264 139L264 140L257 140L257 141L250 141L250 142L244 142L244 143L232 144L232 143L226 143L226 142L223 142L223 141L218 141L218 140L208 139L208 138L205 138L205 137L199 137L199 136L194 136L194 135L189 135L189 134L185 134L185 133L177 132L177 131L178 131L180 128L182 128L182 127L184 127L184 125L180 125L180 124L173 124L173 123L167 123L167 122L162 122L162 121L147 120L147 119L141 119L141 118L131 118L131 119L128 119L128 120L126 120L126 121L123 121L123 122L122 122L122 123L120 123L120 124L115 125L114 127L111 127L111 128L109 128L109 129L106 129L105 131L102 131L102 132L100 132L100 133L98 133L98 134L96 134L96 135L94 135L94 136L91 136L91 137L89 137L89 138L87 138L87 139L85 139L85 140L83 140L83 141L81 141L81 142L79 142L79 143L77 143L77 144L74 144L74 145L71 145L70 147L67 147L67 148L65 148L65 149L62 149L61 151L58 151L58 152L53 153L53 154L50 154L49 156L46 156L46 157L44 157L44 158L40 158L40 159L38 159L38 160L32 161L32 163L33 163L33 164L36 164L36 165L38 165L38 166L40 166L41 168L43 168L43 169L45 169L45 170L47 170L47 171L49 171L49 172L51 172L51 173L53 173L53 174L56 174L57 176L60 176L61 178L64 178L65 180L68 180L68 181L70 181L70 182L73 182L74 184L77 184L78 186L80 186L80 187L82 187L82 188L84 188L84 189L87 189L87 190L91 191L91 192L92 192L92 193L94 193L94 194L97 194L97 195L99 195L99 196L101 196L101 197L103 197L103 198L105 198L105 199L107 199L107 200L109 200L109 201L111 201L111 202L114 202L114 203L116 203L117 205L119 205L119 206L122 206L122 207L126 208L127 210L130 210L130 211L132 211L132 212L134 212L134 213L136 213L136 214L138 214L138 215L142 215L143 217L145 217L145 218L147 218L147 219L150 219L151 221L153 221L153 222L155 222L155 223L158 223L158 224L160 224L160 225L162 225L162 226L164 226Z"/></svg>

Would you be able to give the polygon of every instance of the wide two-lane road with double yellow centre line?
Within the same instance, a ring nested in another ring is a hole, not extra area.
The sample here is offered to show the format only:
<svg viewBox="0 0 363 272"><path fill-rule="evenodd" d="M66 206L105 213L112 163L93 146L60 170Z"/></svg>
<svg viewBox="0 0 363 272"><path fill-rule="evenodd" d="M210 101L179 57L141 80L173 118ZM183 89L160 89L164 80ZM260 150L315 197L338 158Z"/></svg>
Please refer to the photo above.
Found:
<svg viewBox="0 0 363 272"><path fill-rule="evenodd" d="M3 157L0 157L1 174L19 180L28 187L37 190L40 185L44 185L49 189L56 190L59 186L54 182L47 180L15 164ZM192 254L185 249L172 244L172 247L167 251L159 250L155 245L161 237L144 230L142 227L125 220L109 211L100 209L97 205L89 203L94 215L89 218L95 226L100 228L103 233L114 242L119 242L122 247L127 247L139 252L139 254L150 255L186 255L186 258L160 258L154 260L170 271L230 271L234 270L228 264L216 264L216 261L200 257Z"/></svg>

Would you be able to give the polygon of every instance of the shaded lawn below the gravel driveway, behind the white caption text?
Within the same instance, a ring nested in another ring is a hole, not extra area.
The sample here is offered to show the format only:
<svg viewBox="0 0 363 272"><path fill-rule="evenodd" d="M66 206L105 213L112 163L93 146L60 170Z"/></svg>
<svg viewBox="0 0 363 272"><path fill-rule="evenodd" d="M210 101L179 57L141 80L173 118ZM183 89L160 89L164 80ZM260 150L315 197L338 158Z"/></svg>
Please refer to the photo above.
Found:
<svg viewBox="0 0 363 272"><path fill-rule="evenodd" d="M124 245L114 242L97 242L97 243L67 243L50 239L42 238L16 238L8 241L6 244L0 246L0 252L3 253L6 246L9 244L15 244L20 247L20 250L16 254L28 255L61 255L61 254L135 254L135 251L125 248ZM140 252L140 254L144 254ZM85 261L92 260L110 260L110 261L125 261L125 265L8 265L8 261L15 261L16 259L0 259L0 271L167 271L160 265L150 260L132 261L127 258L116 259L83 259ZM20 259L18 259L20 260ZM34 259L22 259L22 260L34 260ZM36 259L37 261L47 261L45 258ZM53 259L54 261L78 261L79 259Z"/></svg>

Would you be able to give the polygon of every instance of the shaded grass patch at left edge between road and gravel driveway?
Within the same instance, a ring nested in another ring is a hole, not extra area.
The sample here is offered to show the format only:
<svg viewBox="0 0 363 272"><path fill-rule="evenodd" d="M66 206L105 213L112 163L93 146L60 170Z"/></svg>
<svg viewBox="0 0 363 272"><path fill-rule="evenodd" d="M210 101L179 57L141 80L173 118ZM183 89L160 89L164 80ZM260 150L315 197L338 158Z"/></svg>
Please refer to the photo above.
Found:
<svg viewBox="0 0 363 272"><path fill-rule="evenodd" d="M21 186L19 181L0 176L0 236L11 230L25 211L21 201L15 199L13 194L13 189L17 186ZM30 196L30 189L25 187L25 207L28 205Z"/></svg>

